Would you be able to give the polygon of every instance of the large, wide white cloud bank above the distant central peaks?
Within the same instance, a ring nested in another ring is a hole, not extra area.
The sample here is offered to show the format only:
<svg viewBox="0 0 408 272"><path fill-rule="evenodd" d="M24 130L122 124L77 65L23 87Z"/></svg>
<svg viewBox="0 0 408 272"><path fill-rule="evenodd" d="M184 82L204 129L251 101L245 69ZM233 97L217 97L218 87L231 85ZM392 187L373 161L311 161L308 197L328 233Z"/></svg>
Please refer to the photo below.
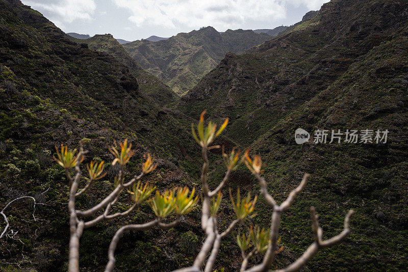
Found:
<svg viewBox="0 0 408 272"><path fill-rule="evenodd" d="M273 22L286 18L287 6L303 5L319 9L328 0L111 0L131 12L128 18L138 27L180 26L199 28L211 25L217 30L237 29L245 22Z"/></svg>

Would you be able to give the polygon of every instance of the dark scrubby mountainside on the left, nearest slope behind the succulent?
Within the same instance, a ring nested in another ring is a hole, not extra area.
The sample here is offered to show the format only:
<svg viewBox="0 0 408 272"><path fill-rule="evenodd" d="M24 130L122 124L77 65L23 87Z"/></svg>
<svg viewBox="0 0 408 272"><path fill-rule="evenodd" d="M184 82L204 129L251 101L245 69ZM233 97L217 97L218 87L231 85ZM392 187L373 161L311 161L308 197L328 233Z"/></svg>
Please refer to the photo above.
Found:
<svg viewBox="0 0 408 272"><path fill-rule="evenodd" d="M98 44L114 43L105 35L94 39ZM118 54L114 57L88 47L91 44L70 41L52 22L20 1L0 0L0 199L8 203L20 196L38 197L38 192L47 190L44 198L38 199L47 205L36 209L36 221L26 202L14 203L7 210L10 229L18 230L19 240L2 238L0 270L66 270L68 183L52 159L55 146L64 143L77 148L82 141L90 151L85 164L91 159L112 161L107 147L114 140L128 138L135 154L126 167L126 178L139 172L143 154L149 152L160 164L149 175L150 182L160 180L158 185L164 188L191 186L196 181L191 177L198 175L199 167L191 161L200 152L190 128L186 128L189 118L145 94L142 79L135 77L133 68L118 61ZM106 171L112 180L115 168L108 164ZM78 199L79 209L108 195L114 186L107 179L93 185L87 196ZM128 200L124 196L118 204L126 207ZM142 207L126 220L141 222L149 216ZM84 269L103 269L105 249L116 224L124 222L98 225L84 233L80 260ZM124 242L120 249L127 252L123 256L134 258L138 244L139 249L147 250L136 256L148 258L149 264L143 264L144 260L141 265L118 260L117 269L162 271L169 265L191 262L192 257L176 246L166 247L166 254L177 254L180 259L163 262L165 253L149 244L161 235L173 241L184 231L155 231L129 239L132 242Z"/></svg>

